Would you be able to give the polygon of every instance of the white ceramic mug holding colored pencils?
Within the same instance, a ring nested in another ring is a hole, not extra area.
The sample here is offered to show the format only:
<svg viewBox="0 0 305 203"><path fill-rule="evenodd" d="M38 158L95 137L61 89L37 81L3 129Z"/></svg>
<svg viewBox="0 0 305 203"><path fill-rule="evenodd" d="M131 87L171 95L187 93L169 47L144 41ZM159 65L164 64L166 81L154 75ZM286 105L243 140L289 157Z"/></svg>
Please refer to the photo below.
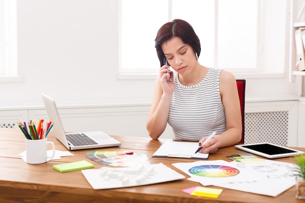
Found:
<svg viewBox="0 0 305 203"><path fill-rule="evenodd" d="M47 146L52 145L52 156L47 154ZM26 148L26 162L28 164L43 164L47 162L47 158L53 158L55 156L55 145L53 142L47 141L47 139L41 140L28 140L25 139Z"/></svg>

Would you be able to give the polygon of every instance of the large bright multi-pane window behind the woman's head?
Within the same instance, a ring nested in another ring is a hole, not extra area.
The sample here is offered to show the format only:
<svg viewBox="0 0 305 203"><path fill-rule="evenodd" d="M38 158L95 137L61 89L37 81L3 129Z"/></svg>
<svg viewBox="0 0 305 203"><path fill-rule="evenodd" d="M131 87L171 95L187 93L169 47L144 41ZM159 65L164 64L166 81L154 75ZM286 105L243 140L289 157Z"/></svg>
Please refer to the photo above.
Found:
<svg viewBox="0 0 305 203"><path fill-rule="evenodd" d="M175 18L194 28L202 65L234 73L284 73L284 62L269 66L266 52L285 60L286 0L121 0L121 9L120 73L157 73L154 38ZM282 42L271 50L270 30L280 33L276 40Z"/></svg>

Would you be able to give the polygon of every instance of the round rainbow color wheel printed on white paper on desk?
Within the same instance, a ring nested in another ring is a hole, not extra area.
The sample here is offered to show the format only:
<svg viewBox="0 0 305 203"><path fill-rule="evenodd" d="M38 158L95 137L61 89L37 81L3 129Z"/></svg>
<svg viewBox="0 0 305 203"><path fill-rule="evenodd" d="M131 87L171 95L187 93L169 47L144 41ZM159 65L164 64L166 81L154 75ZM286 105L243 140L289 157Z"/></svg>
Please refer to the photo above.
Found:
<svg viewBox="0 0 305 203"><path fill-rule="evenodd" d="M211 178L231 177L240 173L236 168L222 165L194 166L189 169L189 172L194 175Z"/></svg>

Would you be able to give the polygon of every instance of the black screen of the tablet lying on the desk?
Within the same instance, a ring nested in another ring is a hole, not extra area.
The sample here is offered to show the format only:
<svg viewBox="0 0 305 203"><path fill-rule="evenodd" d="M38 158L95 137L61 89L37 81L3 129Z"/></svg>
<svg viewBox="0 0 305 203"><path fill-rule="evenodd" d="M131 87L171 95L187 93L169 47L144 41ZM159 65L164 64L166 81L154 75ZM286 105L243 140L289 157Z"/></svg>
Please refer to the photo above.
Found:
<svg viewBox="0 0 305 203"><path fill-rule="evenodd" d="M244 148L249 148L255 151L259 151L265 154L269 155L275 155L275 154L286 154L286 153L293 153L296 152L294 150L286 149L277 147L274 145L269 144L257 144L257 145L249 145L249 146L243 146Z"/></svg>

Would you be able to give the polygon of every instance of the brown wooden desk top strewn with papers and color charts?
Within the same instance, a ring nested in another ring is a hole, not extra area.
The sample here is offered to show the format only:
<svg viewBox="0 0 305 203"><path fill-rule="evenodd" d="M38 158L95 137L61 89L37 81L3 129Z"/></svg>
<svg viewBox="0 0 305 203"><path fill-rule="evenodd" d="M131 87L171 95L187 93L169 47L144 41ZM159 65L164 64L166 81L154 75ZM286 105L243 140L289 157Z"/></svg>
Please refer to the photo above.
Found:
<svg viewBox="0 0 305 203"><path fill-rule="evenodd" d="M120 147L103 148L102 150L133 150L138 154L147 154L151 164L163 163L177 172L185 175L172 163L193 162L189 159L152 158L152 154L164 140L150 138L113 136L122 144ZM54 137L53 132L48 135L48 141L55 143L57 150L67 149ZM305 150L305 148L296 148ZM18 154L25 150L25 138L20 129L0 128L0 202L1 203L304 203L295 199L295 187L291 187L278 197L241 192L223 188L218 199L192 197L181 192L200 184L186 179L127 188L94 190L81 171L60 173L53 169L53 165L87 160L88 150L71 151L75 156L62 157L45 164L30 165L25 163ZM101 149L97 149L101 150ZM241 152L234 147L219 149L216 154L210 154L209 160L223 159L230 154ZM277 161L293 162L290 158ZM209 186L218 188L215 186Z"/></svg>

